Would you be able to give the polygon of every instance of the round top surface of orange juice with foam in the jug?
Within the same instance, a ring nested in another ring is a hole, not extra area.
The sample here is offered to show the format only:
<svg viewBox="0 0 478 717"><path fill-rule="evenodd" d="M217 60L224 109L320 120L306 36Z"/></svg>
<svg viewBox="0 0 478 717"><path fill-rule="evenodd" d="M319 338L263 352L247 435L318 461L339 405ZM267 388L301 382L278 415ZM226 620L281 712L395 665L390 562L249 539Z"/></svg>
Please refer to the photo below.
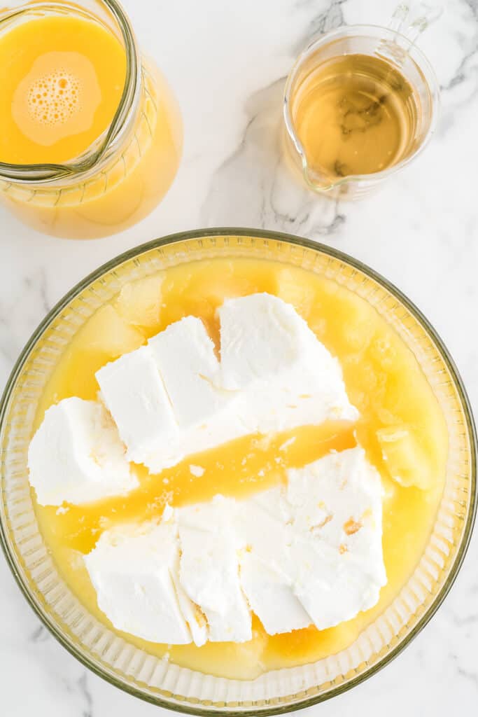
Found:
<svg viewBox="0 0 478 717"><path fill-rule="evenodd" d="M126 57L100 24L47 16L1 35L0 67L0 161L62 163L110 125Z"/></svg>

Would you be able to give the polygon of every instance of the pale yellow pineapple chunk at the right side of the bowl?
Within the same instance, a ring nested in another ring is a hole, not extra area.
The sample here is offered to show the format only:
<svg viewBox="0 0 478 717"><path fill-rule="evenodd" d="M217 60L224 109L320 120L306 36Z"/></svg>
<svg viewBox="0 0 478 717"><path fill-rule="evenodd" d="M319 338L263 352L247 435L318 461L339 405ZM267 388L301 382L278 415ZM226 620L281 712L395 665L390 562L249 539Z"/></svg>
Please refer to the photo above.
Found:
<svg viewBox="0 0 478 717"><path fill-rule="evenodd" d="M382 457L391 478L409 488L431 488L431 463L416 436L406 426L388 426L377 431Z"/></svg>

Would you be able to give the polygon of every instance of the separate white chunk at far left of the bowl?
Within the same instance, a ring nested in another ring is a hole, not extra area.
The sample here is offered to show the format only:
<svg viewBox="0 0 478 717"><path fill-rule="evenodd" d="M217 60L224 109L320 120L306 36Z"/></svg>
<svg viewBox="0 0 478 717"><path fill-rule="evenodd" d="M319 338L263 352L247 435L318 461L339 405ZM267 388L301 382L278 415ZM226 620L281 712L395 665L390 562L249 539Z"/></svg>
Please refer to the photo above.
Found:
<svg viewBox="0 0 478 717"><path fill-rule="evenodd" d="M47 410L30 443L28 467L40 505L90 503L138 486L102 404L78 398Z"/></svg>

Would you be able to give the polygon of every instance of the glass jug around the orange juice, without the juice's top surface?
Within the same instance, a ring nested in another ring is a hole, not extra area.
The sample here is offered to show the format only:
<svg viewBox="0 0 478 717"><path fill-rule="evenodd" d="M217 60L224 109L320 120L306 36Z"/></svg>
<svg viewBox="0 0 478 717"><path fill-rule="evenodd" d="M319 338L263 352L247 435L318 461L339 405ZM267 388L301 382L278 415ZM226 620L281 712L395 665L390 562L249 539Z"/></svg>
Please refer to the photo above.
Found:
<svg viewBox="0 0 478 717"><path fill-rule="evenodd" d="M99 24L118 39L123 92L110 124L80 156L64 163L0 162L0 201L40 232L103 237L138 222L166 194L181 158L181 115L161 72L141 56L116 0L9 0L0 11L0 38L21 23L62 15Z"/></svg>

